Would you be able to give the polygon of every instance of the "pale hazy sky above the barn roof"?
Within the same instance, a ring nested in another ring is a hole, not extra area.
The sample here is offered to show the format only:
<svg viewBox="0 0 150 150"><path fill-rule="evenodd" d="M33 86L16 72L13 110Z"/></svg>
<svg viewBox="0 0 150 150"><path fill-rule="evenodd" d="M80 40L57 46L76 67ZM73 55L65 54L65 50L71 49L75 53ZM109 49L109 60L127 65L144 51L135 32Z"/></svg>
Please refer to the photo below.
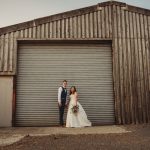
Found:
<svg viewBox="0 0 150 150"><path fill-rule="evenodd" d="M0 0L0 28L108 0ZM150 9L150 0L120 0Z"/></svg>

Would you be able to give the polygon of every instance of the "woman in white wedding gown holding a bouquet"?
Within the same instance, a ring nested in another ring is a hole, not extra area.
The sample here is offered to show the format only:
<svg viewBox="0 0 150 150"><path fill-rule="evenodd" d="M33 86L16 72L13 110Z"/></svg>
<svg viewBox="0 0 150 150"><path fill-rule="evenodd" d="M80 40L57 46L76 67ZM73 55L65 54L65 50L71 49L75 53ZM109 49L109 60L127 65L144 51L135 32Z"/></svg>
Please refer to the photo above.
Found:
<svg viewBox="0 0 150 150"><path fill-rule="evenodd" d="M67 112L66 127L85 127L91 126L91 122L87 119L87 115L78 102L78 94L75 86L70 88L70 102Z"/></svg>

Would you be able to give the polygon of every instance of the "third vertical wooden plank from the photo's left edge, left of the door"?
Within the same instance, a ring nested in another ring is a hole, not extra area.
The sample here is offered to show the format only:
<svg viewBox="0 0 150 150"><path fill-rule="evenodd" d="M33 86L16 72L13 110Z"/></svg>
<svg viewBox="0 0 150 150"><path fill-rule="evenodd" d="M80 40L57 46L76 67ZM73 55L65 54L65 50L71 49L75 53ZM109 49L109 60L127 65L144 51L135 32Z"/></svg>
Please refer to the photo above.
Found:
<svg viewBox="0 0 150 150"><path fill-rule="evenodd" d="M10 42L9 42L9 71L13 71L13 53L14 53L14 43L13 43L13 40L14 40L14 33L11 32L10 33Z"/></svg>

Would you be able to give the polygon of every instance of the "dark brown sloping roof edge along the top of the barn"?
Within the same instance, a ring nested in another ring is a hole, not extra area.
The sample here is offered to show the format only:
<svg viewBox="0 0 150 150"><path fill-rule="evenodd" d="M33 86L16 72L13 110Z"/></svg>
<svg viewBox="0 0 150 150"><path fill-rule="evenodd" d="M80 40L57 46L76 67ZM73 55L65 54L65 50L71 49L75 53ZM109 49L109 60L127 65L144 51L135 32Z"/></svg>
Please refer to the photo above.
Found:
<svg viewBox="0 0 150 150"><path fill-rule="evenodd" d="M6 34L9 32L14 32L17 30L31 28L31 27L38 26L43 23L48 23L48 22L60 20L63 18L90 13L90 12L98 10L100 7L104 7L108 5L117 5L117 6L125 7L126 10L131 11L131 12L138 12L144 15L150 15L150 9L131 6L131 5L127 5L126 3L118 2L118 1L107 1L107 2L98 3L97 5L93 5L93 6L71 10L71 11L67 11L67 12L63 12L63 13L59 13L59 14L55 14L51 16L46 16L42 18L37 18L37 19L30 20L27 22L3 27L3 28L0 28L0 35Z"/></svg>

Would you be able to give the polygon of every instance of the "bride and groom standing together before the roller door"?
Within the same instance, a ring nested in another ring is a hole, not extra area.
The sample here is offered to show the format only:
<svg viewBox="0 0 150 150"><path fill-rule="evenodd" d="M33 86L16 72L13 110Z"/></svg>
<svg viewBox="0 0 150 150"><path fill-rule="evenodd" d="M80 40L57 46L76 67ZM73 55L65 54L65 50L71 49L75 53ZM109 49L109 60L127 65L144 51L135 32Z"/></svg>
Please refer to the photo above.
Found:
<svg viewBox="0 0 150 150"><path fill-rule="evenodd" d="M78 94L75 86L70 88L70 100L67 101L67 81L63 81L62 87L58 89L58 106L60 125L64 125L63 115L64 109L68 106L66 127L86 127L91 126L91 122L87 119L87 115L78 102ZM69 103L69 104L68 104Z"/></svg>

